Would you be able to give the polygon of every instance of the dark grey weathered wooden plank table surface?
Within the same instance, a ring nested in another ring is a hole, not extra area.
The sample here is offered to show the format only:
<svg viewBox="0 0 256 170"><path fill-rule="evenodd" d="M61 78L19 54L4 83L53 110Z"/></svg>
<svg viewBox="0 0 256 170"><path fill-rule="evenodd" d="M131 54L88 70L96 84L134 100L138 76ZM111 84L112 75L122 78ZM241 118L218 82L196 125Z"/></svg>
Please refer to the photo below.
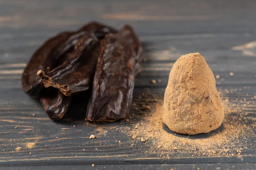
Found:
<svg viewBox="0 0 256 170"><path fill-rule="evenodd" d="M0 169L255 169L256 128L251 136L239 139L244 147L252 144L239 158L184 155L167 159L145 153L150 147L143 142L128 147L131 137L116 130L129 126L122 121L96 125L83 120L51 121L39 102L22 91L20 80L32 53L47 38L96 20L116 28L130 24L143 42L147 61L135 82L135 102L140 102L137 96L145 88L163 97L159 91L167 85L172 64L192 52L205 57L213 74L225 77L216 80L217 89L241 88L222 97L239 101L247 97L247 102L253 102L255 19L253 0L0 0ZM228 77L230 72L233 77ZM151 84L151 79L162 82ZM256 105L243 107L241 113L250 119L245 123L256 124ZM92 133L97 135L93 142ZM27 142L36 145L15 150Z"/></svg>

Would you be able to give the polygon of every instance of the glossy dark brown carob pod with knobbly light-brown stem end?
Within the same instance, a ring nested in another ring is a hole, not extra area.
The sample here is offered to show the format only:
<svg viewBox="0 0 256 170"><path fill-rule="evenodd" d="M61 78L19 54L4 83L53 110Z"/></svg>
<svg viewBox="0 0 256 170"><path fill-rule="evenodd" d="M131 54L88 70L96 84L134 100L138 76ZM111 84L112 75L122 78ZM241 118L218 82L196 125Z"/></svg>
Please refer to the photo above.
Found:
<svg viewBox="0 0 256 170"><path fill-rule="evenodd" d="M43 71L39 71L38 77L43 78L46 88L52 86L66 96L87 91L95 73L98 55L98 39L91 34L85 35L76 43L70 59L47 75L44 75Z"/></svg>

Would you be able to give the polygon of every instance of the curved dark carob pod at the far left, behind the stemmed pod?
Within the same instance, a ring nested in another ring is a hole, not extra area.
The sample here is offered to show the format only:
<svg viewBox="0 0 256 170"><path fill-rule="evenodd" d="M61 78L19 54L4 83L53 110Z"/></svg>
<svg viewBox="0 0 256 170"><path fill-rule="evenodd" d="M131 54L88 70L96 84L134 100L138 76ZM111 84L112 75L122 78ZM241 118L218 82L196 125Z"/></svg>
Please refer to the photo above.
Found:
<svg viewBox="0 0 256 170"><path fill-rule="evenodd" d="M44 87L42 85L42 79L36 76L38 70L43 70L45 74L47 74L55 68L56 65L61 65L64 61L60 59L61 55L70 51L70 49L72 50L76 41L84 34L93 33L100 39L112 32L116 32L116 30L101 23L90 22L76 32L63 32L50 38L29 60L28 65L22 74L23 91L33 98L38 98Z"/></svg>

